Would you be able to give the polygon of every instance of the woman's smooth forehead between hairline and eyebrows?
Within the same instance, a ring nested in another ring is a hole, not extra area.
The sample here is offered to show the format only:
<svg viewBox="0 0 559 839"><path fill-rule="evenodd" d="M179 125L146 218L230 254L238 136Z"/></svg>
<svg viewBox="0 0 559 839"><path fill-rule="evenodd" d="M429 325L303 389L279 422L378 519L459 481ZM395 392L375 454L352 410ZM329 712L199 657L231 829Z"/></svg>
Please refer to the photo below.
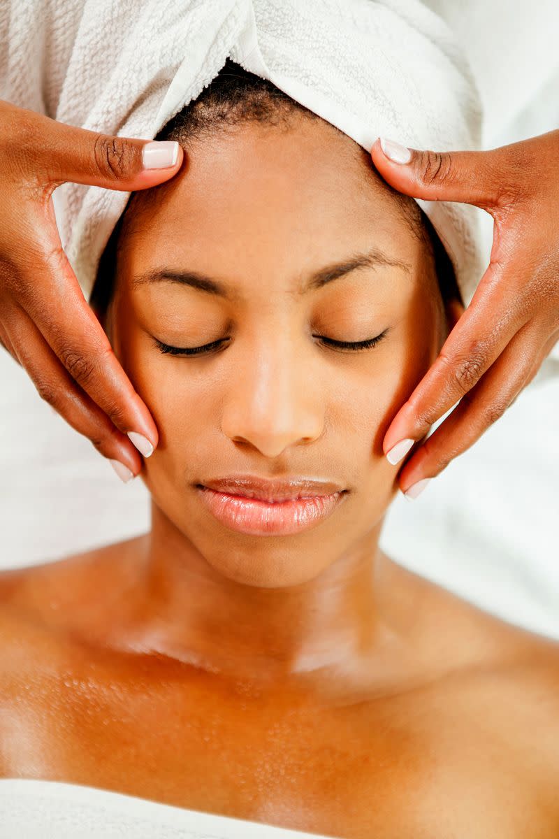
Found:
<svg viewBox="0 0 559 839"><path fill-rule="evenodd" d="M249 123L197 139L179 175L134 195L120 250L132 272L174 263L239 279L272 264L291 275L371 245L414 263L403 201L329 123Z"/></svg>

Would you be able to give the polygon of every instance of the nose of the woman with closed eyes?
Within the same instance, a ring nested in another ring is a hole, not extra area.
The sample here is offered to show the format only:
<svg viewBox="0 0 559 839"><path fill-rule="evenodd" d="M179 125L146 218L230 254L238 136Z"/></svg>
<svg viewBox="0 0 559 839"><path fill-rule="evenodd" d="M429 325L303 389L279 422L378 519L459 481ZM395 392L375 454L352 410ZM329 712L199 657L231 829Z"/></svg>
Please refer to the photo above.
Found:
<svg viewBox="0 0 559 839"><path fill-rule="evenodd" d="M231 376L221 420L224 434L267 457L317 440L324 427L323 399L310 359L309 365L287 341L247 352Z"/></svg>

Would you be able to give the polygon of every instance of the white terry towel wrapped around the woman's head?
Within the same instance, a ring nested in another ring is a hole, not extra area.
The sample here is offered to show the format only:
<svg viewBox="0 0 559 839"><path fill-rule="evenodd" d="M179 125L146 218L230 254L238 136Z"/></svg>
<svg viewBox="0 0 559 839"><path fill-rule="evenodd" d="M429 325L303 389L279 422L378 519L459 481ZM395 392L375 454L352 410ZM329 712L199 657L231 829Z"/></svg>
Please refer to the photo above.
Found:
<svg viewBox="0 0 559 839"><path fill-rule="evenodd" d="M4 0L0 97L93 131L153 138L227 57L365 149L475 149L479 96L419 0ZM57 218L86 299L127 194L63 185ZM465 302L482 274L474 208L418 201Z"/></svg>

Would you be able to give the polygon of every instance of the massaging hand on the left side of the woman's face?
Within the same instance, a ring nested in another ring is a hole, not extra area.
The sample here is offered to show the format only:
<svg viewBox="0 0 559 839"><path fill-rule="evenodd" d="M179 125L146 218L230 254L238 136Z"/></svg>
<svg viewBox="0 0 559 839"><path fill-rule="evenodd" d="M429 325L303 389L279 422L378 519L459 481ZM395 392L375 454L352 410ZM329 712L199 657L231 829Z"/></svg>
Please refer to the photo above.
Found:
<svg viewBox="0 0 559 839"><path fill-rule="evenodd" d="M0 101L0 342L43 399L133 474L138 451L157 446L157 428L85 301L51 195L67 180L142 190L172 177L182 159L178 143L96 134Z"/></svg>

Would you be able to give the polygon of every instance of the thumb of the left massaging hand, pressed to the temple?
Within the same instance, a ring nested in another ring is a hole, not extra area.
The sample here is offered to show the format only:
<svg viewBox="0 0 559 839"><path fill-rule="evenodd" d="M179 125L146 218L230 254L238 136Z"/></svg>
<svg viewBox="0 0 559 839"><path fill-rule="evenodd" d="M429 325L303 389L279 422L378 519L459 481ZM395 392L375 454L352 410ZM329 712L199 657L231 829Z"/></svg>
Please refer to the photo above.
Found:
<svg viewBox="0 0 559 839"><path fill-rule="evenodd" d="M109 190L142 190L175 175L183 162L176 142L137 140L87 131L33 114L35 127L25 157L36 178L49 184L65 181Z"/></svg>

